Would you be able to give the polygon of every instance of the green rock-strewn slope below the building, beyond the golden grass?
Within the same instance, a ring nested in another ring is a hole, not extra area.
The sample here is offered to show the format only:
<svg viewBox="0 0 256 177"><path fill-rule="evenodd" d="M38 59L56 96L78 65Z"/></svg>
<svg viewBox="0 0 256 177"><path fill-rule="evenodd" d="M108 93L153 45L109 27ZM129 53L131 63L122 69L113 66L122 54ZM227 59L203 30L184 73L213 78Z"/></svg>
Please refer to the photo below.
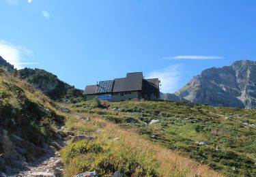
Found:
<svg viewBox="0 0 256 177"><path fill-rule="evenodd" d="M255 110L168 101L84 101L68 108L115 123L227 176L256 176Z"/></svg>

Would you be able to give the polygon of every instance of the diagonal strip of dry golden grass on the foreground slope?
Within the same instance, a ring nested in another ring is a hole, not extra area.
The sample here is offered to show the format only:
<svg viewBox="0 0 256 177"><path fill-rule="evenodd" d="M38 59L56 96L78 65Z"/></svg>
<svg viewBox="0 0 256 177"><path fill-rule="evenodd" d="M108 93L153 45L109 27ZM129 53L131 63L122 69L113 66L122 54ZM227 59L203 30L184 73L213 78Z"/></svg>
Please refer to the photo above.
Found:
<svg viewBox="0 0 256 177"><path fill-rule="evenodd" d="M79 116L91 117L92 125L104 125L104 131L97 134L97 138L118 137L122 141L122 146L139 155L147 155L149 152L154 155L160 164L158 169L159 176L221 176L207 165L201 165L195 161L182 157L178 152L173 152L167 148L152 144L135 133L132 129L122 129L118 125L114 125L100 116L92 116L91 114L79 114ZM78 125L79 129L83 128L81 123L67 121L67 127L74 129ZM83 123L86 125L87 123ZM76 129L76 130L79 130ZM152 157L153 158L153 157Z"/></svg>

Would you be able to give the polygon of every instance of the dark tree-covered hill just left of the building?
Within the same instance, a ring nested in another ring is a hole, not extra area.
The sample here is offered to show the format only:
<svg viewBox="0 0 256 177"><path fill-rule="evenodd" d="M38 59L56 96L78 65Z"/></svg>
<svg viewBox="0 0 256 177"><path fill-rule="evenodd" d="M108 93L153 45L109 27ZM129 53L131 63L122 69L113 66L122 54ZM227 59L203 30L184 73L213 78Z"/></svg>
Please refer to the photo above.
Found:
<svg viewBox="0 0 256 177"><path fill-rule="evenodd" d="M18 75L55 101L68 99L75 102L83 99L83 91L59 80L57 76L43 69L20 69Z"/></svg>

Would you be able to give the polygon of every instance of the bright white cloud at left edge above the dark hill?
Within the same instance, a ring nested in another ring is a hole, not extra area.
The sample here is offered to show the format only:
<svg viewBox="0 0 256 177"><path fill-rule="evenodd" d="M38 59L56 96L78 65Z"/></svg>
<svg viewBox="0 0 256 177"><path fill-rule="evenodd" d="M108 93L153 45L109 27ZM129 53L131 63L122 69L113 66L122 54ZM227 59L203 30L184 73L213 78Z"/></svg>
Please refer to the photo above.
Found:
<svg viewBox="0 0 256 177"><path fill-rule="evenodd" d="M25 58L28 58L32 54L33 52L24 46L16 46L0 40L0 56L17 69L23 68L24 65L39 64L38 62L24 62Z"/></svg>

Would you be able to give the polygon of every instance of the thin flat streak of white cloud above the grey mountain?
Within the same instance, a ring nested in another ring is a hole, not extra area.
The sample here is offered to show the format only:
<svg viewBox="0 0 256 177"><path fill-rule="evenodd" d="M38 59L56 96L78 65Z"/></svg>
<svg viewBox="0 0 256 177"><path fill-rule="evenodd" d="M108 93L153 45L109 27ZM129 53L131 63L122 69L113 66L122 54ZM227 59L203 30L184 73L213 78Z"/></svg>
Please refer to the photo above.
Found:
<svg viewBox="0 0 256 177"><path fill-rule="evenodd" d="M175 57L163 57L163 59L212 60L212 59L224 59L224 57L209 56L209 55L178 55Z"/></svg>

